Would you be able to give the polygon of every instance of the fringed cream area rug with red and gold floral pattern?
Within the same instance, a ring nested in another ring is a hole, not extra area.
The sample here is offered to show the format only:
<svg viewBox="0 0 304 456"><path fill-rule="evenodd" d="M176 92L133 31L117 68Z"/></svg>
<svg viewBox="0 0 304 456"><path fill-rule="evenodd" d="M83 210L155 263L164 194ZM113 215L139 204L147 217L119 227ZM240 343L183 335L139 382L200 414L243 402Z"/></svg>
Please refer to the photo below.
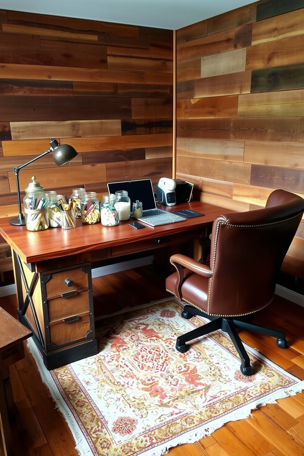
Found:
<svg viewBox="0 0 304 456"><path fill-rule="evenodd" d="M176 337L207 321L185 320L182 310L169 299L105 319L96 331L97 355L50 372L29 340L81 456L159 456L304 389L303 381L247 346L254 374L243 376L221 331L177 352Z"/></svg>

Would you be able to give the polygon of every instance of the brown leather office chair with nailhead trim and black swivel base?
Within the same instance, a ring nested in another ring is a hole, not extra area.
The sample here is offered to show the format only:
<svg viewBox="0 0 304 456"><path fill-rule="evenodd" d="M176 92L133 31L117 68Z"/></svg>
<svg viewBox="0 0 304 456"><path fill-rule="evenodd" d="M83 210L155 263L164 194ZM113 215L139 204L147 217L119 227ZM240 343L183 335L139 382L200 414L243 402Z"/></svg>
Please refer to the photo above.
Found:
<svg viewBox="0 0 304 456"><path fill-rule="evenodd" d="M186 342L222 329L241 358L241 372L251 375L249 356L237 328L276 337L278 347L287 347L283 331L250 321L255 312L273 300L278 272L303 212L303 198L275 190L264 209L215 219L209 265L181 254L171 256L176 272L166 279L166 289L188 303L182 316L188 319L201 315L211 320L177 337L179 352L190 348Z"/></svg>

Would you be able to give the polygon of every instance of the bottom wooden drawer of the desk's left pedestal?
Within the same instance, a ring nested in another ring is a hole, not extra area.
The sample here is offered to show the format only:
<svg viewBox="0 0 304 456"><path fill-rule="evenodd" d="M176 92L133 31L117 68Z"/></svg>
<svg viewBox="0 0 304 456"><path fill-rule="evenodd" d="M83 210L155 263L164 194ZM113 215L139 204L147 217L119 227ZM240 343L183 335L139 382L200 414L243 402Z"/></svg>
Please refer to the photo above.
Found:
<svg viewBox="0 0 304 456"><path fill-rule="evenodd" d="M90 316L80 316L77 320L50 325L50 342L53 349L73 342L85 340L91 331Z"/></svg>

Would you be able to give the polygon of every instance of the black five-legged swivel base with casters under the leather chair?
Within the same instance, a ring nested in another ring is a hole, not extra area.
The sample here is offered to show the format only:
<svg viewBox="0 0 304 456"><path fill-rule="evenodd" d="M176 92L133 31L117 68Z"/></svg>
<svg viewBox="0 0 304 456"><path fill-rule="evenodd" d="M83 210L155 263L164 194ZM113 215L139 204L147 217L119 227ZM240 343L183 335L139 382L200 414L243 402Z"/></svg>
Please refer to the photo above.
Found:
<svg viewBox="0 0 304 456"><path fill-rule="evenodd" d="M277 337L278 347L287 347L285 333L283 331L268 328L267 326L259 326L253 323L248 323L247 321L236 320L234 318L211 316L206 314L204 311L197 309L196 307L188 305L184 307L184 311L181 315L183 318L186 319L190 319L193 315L200 315L207 317L211 321L206 323L206 325L200 326L190 332L187 332L182 336L177 337L175 347L178 352L185 353L187 350L189 350L191 346L188 345L186 342L190 342L193 339L205 336L206 334L221 329L223 332L227 332L227 334L233 342L234 347L236 348L239 354L239 357L241 358L242 364L240 370L243 375L252 375L253 371L250 365L249 356L242 344L239 335L237 334L237 328L249 332L256 332L267 336ZM244 320L247 320L247 318L245 318Z"/></svg>

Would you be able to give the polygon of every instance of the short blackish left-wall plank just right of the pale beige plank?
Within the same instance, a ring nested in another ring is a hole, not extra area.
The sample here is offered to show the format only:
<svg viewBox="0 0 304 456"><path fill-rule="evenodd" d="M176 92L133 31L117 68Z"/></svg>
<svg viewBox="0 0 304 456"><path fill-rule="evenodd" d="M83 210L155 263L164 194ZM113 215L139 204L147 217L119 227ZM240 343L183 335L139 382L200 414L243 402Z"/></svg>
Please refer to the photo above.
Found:
<svg viewBox="0 0 304 456"><path fill-rule="evenodd" d="M121 121L121 134L149 135L158 133L172 133L172 119L132 119Z"/></svg>

